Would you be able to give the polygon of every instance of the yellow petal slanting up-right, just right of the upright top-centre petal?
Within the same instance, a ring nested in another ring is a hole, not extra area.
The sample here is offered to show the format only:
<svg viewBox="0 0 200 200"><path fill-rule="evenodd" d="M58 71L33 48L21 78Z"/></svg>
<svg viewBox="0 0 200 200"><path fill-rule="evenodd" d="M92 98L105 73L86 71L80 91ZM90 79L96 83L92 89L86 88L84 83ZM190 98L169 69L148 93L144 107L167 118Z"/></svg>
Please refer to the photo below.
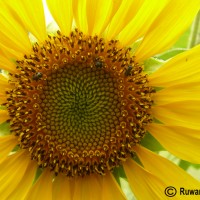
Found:
<svg viewBox="0 0 200 200"><path fill-rule="evenodd" d="M131 21L131 19L140 10L144 0L124 0L113 16L106 32L106 38L111 40L115 38L121 30ZM122 42L125 38L122 38Z"/></svg>

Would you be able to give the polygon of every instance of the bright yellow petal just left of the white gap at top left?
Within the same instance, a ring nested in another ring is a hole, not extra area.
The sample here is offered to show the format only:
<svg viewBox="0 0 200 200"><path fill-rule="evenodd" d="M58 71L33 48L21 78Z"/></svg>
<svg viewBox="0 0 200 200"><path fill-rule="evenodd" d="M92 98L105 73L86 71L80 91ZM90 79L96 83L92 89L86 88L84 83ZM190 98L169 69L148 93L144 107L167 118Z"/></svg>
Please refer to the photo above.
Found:
<svg viewBox="0 0 200 200"><path fill-rule="evenodd" d="M46 39L46 25L42 0L7 0L6 4L26 31L31 32L40 42Z"/></svg>

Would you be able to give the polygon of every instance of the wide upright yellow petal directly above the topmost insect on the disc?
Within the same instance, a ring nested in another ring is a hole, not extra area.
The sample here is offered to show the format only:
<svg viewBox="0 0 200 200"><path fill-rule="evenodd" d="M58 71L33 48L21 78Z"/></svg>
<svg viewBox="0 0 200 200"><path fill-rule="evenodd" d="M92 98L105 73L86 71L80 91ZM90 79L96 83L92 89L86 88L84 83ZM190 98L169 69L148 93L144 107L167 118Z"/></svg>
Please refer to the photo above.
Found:
<svg viewBox="0 0 200 200"><path fill-rule="evenodd" d="M87 0L88 33L100 35L108 25L113 10L113 0Z"/></svg>

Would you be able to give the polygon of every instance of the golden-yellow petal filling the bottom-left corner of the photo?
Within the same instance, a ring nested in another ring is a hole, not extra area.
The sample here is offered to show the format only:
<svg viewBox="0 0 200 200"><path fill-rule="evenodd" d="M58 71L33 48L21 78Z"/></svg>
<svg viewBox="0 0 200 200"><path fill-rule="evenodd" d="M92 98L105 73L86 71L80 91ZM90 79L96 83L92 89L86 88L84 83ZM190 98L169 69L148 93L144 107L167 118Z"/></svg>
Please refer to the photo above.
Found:
<svg viewBox="0 0 200 200"><path fill-rule="evenodd" d="M27 169L29 161L27 151L21 150L9 156L0 164L0 199L8 199L7 197L18 189L17 186Z"/></svg>

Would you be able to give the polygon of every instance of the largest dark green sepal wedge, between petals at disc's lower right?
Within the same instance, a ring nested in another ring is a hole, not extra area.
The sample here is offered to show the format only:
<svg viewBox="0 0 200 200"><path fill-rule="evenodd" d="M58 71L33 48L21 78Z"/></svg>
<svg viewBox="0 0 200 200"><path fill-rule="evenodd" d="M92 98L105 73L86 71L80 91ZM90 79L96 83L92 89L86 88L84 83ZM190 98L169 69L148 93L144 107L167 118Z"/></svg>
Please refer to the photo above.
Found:
<svg viewBox="0 0 200 200"><path fill-rule="evenodd" d="M155 152L165 150L165 148L150 133L145 135L141 141L141 145Z"/></svg>

